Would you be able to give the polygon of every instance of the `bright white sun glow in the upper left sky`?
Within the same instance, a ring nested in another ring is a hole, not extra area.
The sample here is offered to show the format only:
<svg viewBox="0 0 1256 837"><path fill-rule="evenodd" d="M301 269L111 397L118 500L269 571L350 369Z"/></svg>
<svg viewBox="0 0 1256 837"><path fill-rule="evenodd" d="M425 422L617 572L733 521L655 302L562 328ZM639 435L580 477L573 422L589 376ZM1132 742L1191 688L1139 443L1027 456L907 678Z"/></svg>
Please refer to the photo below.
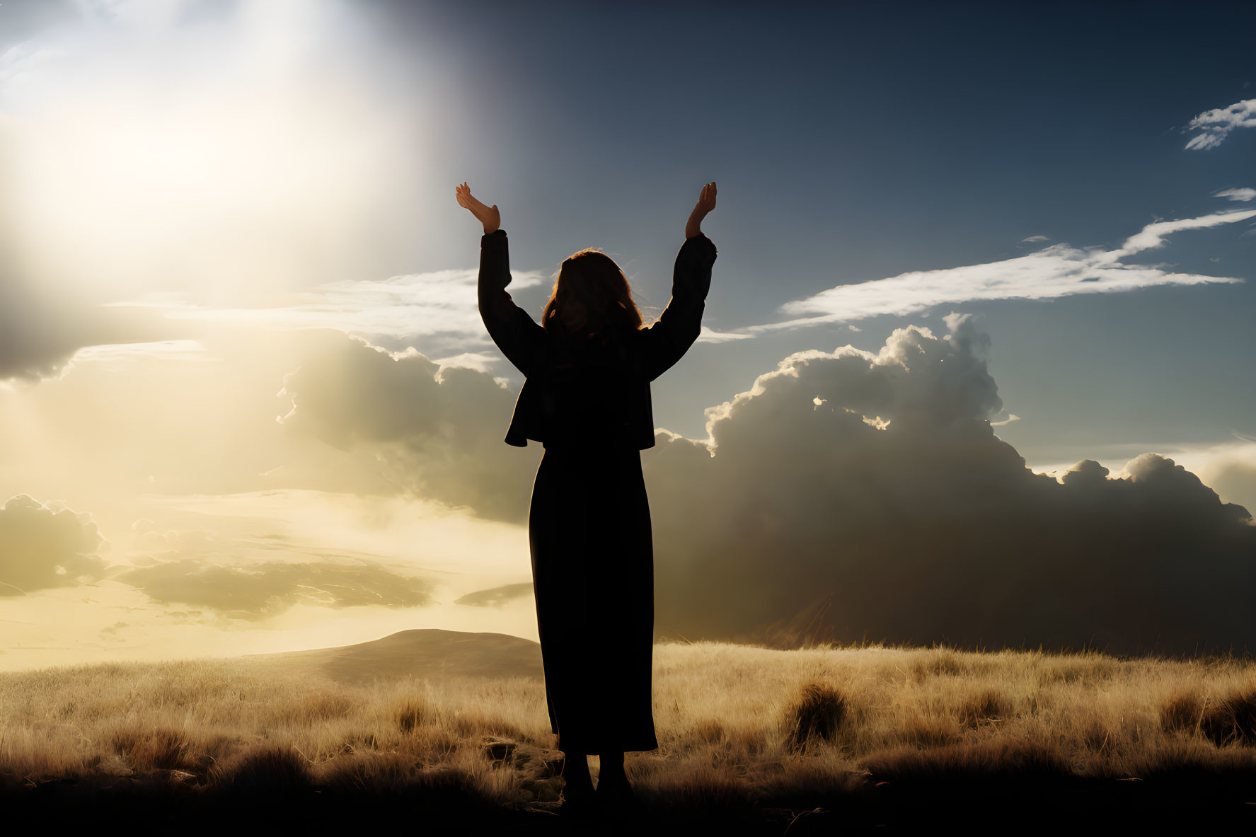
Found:
<svg viewBox="0 0 1256 837"><path fill-rule="evenodd" d="M82 288L212 297L344 261L388 166L421 155L350 18L266 3L183 23L173 5L123 4L10 62L0 140L28 263Z"/></svg>

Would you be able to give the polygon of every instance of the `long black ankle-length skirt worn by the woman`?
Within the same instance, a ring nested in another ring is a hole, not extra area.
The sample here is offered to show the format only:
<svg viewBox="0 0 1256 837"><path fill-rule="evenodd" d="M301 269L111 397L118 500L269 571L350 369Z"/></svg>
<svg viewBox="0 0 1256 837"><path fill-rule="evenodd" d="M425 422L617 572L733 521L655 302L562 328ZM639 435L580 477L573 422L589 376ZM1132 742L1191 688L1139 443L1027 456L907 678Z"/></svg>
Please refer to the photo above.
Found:
<svg viewBox="0 0 1256 837"><path fill-rule="evenodd" d="M528 535L559 749L657 749L654 552L641 451L546 445Z"/></svg>

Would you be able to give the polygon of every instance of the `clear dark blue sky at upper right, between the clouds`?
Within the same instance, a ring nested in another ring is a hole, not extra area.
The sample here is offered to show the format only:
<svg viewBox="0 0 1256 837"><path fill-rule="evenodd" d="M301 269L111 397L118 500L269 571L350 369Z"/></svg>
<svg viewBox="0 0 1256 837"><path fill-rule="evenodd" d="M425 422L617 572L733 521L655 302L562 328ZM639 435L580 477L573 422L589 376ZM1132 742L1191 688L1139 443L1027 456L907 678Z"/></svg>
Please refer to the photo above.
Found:
<svg viewBox="0 0 1256 837"><path fill-rule="evenodd" d="M442 133L443 170L501 206L519 266L600 245L661 304L690 192L716 180L707 322L725 331L834 285L1058 243L1115 248L1157 220L1243 209L1212 195L1251 186L1256 132L1187 151L1183 128L1256 96L1233 43L1253 19L1240 4L461 4L414 10L396 34L453 50L466 113ZM465 220L416 245L455 263L474 246ZM1182 231L1133 261L1251 279L1251 229ZM1022 243L1035 235L1049 241ZM860 333L700 344L659 382L658 422L698 435L701 408L746 388L749 369L801 348L874 348L955 309L991 334L991 368L1022 417L1001 435L1031 461L1256 434L1256 395L1240 385L1252 293L967 303L860 320Z"/></svg>

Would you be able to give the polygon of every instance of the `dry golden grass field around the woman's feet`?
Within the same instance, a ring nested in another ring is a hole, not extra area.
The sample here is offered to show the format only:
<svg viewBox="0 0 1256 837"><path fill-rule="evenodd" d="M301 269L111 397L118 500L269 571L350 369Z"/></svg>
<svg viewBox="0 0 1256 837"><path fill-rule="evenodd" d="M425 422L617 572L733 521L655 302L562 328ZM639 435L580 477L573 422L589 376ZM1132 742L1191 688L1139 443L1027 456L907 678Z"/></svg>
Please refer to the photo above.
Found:
<svg viewBox="0 0 1256 837"><path fill-rule="evenodd" d="M668 643L654 719L659 749L627 769L656 826L1256 803L1256 664L1238 659ZM353 685L250 659L0 674L9 802L368 799L544 831L563 819L553 747L531 677Z"/></svg>

